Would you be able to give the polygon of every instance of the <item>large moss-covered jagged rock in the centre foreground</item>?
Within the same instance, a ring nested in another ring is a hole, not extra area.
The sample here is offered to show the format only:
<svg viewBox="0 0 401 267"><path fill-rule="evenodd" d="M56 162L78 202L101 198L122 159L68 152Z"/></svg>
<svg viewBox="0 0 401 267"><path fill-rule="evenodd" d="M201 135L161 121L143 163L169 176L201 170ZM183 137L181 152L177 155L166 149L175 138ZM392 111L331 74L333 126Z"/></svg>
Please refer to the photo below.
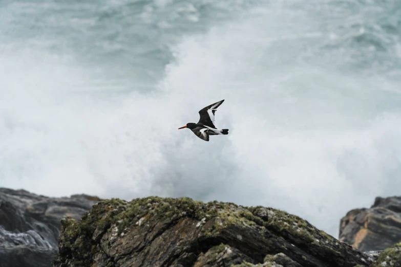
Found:
<svg viewBox="0 0 401 267"><path fill-rule="evenodd" d="M298 216L190 198L110 199L62 220L54 267L354 267L373 261ZM268 265L270 264L270 265Z"/></svg>

